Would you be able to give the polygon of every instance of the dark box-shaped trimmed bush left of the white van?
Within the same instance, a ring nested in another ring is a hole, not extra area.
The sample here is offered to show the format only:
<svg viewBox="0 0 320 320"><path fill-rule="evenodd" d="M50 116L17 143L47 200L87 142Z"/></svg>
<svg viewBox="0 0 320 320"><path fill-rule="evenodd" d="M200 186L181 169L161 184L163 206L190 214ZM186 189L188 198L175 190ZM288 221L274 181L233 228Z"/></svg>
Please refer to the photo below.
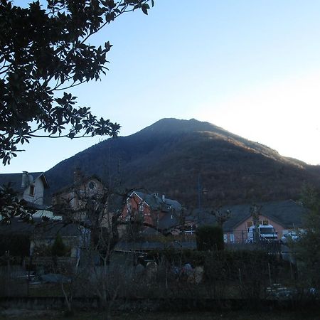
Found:
<svg viewBox="0 0 320 320"><path fill-rule="evenodd" d="M223 228L218 225L203 225L196 231L196 241L199 251L223 250Z"/></svg>

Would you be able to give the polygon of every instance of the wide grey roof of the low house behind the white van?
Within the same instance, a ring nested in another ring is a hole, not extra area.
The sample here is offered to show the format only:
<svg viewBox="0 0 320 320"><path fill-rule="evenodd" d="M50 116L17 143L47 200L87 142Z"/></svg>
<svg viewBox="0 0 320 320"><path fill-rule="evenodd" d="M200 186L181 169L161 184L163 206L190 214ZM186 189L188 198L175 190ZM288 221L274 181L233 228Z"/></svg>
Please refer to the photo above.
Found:
<svg viewBox="0 0 320 320"><path fill-rule="evenodd" d="M285 201L270 201L265 203L257 203L258 206L262 206L260 213L266 218L273 220L283 228L302 227L302 219L304 214L308 211L306 208L300 206L298 203L292 200ZM242 204L236 206L223 206L221 211L230 210L230 219L223 224L225 231L231 231L236 228L240 223L250 218L250 204ZM196 218L198 213L193 214L193 219ZM208 211L203 210L200 213L201 224L215 223L215 218L210 215Z"/></svg>

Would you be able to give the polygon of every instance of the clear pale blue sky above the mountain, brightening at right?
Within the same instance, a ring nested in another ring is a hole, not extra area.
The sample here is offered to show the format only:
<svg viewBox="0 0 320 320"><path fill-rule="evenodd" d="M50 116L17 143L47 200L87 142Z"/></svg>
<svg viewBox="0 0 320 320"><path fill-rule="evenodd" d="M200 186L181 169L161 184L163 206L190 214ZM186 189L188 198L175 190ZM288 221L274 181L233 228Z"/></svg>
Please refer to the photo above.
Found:
<svg viewBox="0 0 320 320"><path fill-rule="evenodd" d="M91 43L104 41L110 72L73 93L121 135L196 118L320 164L320 1L156 0ZM46 171L100 139L33 139L0 171Z"/></svg>

